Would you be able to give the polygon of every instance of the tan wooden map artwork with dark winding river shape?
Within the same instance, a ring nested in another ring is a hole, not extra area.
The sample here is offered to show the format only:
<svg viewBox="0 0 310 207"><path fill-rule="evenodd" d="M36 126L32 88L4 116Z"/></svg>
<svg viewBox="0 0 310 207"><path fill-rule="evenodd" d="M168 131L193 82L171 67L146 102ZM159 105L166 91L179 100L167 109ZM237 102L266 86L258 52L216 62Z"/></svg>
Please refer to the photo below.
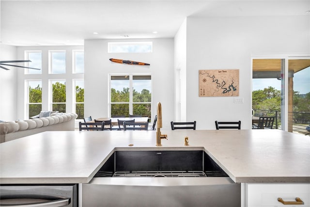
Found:
<svg viewBox="0 0 310 207"><path fill-rule="evenodd" d="M199 97L239 96L239 69L199 70Z"/></svg>

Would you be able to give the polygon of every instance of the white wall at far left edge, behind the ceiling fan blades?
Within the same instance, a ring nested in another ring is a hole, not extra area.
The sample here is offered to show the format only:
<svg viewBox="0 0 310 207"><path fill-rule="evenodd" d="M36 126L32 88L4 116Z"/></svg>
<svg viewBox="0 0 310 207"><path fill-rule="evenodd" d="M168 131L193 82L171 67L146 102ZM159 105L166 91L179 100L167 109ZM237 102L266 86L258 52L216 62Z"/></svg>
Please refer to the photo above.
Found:
<svg viewBox="0 0 310 207"><path fill-rule="evenodd" d="M15 46L0 44L0 60L16 60ZM4 66L4 65L3 65ZM10 70L0 68L0 120L11 121L17 114L17 79L16 71L19 68L10 67Z"/></svg>

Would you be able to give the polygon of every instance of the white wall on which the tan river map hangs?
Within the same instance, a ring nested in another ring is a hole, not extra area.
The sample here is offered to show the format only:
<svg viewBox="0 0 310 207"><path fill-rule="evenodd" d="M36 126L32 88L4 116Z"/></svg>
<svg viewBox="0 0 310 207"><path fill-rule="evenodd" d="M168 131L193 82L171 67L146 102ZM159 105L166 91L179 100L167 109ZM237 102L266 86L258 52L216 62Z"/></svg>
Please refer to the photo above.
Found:
<svg viewBox="0 0 310 207"><path fill-rule="evenodd" d="M198 129L215 120L241 120L251 128L251 55L310 52L309 16L187 18L186 119ZM239 69L239 97L199 97L198 71Z"/></svg>

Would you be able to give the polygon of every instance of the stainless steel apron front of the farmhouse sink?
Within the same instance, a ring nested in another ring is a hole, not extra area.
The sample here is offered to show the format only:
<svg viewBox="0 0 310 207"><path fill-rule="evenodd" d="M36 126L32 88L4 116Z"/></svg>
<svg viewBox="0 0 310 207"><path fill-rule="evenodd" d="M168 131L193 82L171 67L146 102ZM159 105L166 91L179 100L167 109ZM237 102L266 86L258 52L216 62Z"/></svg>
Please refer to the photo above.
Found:
<svg viewBox="0 0 310 207"><path fill-rule="evenodd" d="M83 207L240 207L229 177L96 177L82 184Z"/></svg>

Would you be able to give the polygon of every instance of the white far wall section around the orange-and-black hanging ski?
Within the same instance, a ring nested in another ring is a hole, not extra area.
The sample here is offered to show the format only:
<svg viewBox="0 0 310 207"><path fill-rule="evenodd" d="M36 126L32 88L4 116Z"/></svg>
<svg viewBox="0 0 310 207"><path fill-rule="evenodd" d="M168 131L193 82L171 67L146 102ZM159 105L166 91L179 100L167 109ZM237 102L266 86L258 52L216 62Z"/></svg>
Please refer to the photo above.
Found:
<svg viewBox="0 0 310 207"><path fill-rule="evenodd" d="M108 53L108 42L153 42L152 53ZM173 39L85 40L85 116L109 117L109 74L150 73L152 75L152 119L157 102L162 105L162 124L171 128L173 119ZM145 65L117 64L110 58L149 63Z"/></svg>

